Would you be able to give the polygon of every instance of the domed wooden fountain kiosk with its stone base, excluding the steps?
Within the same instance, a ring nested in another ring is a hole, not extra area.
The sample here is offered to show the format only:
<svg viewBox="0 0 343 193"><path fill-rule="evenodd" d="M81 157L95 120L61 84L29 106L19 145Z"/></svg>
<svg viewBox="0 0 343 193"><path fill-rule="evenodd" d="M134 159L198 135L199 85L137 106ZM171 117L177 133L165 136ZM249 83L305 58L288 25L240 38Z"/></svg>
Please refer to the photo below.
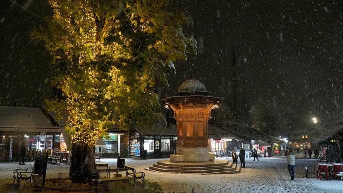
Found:
<svg viewBox="0 0 343 193"><path fill-rule="evenodd" d="M211 110L221 106L220 98L210 96L205 85L191 79L163 102L165 108L173 109L177 121L177 155L170 155L170 162L214 160L208 148L207 122Z"/></svg>

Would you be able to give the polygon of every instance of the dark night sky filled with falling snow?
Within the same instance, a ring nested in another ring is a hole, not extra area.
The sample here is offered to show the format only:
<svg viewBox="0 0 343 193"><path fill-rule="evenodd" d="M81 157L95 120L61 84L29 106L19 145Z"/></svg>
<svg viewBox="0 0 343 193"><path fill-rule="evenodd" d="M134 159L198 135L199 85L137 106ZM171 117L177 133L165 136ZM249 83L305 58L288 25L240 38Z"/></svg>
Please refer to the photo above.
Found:
<svg viewBox="0 0 343 193"><path fill-rule="evenodd" d="M33 13L49 13L45 0L18 0ZM50 57L28 37L42 21L10 1L0 11L0 105L32 105L50 96ZM192 76L213 96L228 95L235 48L249 110L259 98L274 101L289 122L285 130L343 121L343 1L188 1L198 55L176 63L170 89Z"/></svg>

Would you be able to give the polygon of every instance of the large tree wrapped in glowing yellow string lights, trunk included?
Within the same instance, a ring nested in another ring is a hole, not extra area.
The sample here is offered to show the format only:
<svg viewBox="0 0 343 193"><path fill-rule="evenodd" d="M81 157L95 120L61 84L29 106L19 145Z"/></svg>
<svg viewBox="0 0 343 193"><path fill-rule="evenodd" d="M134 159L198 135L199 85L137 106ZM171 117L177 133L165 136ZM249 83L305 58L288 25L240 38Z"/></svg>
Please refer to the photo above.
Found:
<svg viewBox="0 0 343 193"><path fill-rule="evenodd" d="M50 109L66 118L72 141L69 178L89 182L94 145L106 128L153 124L160 108L154 84L167 83L177 60L196 53L183 33L191 25L168 0L49 0L53 15L33 37L54 60L57 97Z"/></svg>

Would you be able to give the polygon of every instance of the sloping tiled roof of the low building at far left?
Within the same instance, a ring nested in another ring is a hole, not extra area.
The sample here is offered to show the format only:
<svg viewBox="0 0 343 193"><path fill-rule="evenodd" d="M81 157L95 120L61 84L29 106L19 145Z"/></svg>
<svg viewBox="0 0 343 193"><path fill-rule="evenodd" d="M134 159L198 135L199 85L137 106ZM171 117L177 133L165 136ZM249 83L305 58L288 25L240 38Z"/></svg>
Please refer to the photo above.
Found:
<svg viewBox="0 0 343 193"><path fill-rule="evenodd" d="M54 124L39 108L0 106L0 128L52 128Z"/></svg>

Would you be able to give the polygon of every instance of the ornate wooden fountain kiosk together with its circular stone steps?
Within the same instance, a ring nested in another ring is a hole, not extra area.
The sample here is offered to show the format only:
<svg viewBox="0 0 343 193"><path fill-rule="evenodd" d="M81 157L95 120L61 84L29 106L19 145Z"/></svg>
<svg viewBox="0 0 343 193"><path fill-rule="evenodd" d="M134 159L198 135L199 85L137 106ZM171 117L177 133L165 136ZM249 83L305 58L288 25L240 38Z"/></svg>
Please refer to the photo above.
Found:
<svg viewBox="0 0 343 193"><path fill-rule="evenodd" d="M221 106L220 98L210 96L198 80L181 84L174 96L163 100L164 107L174 111L177 121L177 154L160 160L146 170L167 173L224 174L240 173L228 160L214 160L209 153L207 122L211 110Z"/></svg>

